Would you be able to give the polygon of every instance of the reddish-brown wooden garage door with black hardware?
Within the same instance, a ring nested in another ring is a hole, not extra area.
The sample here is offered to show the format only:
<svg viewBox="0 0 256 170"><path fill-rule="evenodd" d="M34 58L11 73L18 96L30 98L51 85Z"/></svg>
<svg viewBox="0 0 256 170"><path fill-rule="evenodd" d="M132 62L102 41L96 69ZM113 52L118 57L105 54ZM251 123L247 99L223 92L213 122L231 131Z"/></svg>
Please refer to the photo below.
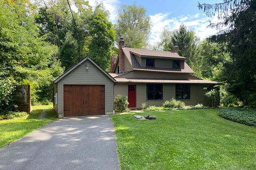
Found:
<svg viewBox="0 0 256 170"><path fill-rule="evenodd" d="M103 114L104 85L64 85L64 117Z"/></svg>

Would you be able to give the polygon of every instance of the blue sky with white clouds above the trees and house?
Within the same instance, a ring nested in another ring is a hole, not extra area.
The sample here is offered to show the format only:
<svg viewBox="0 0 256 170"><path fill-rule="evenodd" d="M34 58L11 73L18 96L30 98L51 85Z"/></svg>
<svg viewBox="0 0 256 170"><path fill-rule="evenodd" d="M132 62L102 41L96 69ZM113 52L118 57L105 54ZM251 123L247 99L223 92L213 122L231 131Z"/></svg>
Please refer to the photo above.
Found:
<svg viewBox="0 0 256 170"><path fill-rule="evenodd" d="M89 0L91 5L95 0ZM118 7L123 4L141 5L147 9L147 15L151 20L151 32L149 36L149 48L156 45L164 28L174 30L178 29L181 23L187 25L190 30L194 30L196 35L203 40L217 32L216 29L207 28L209 21L217 22L218 18L207 17L203 11L197 7L200 3L219 3L221 0L176 0L176 1L146 1L146 0L101 0L106 9L110 12L110 20L115 23Z"/></svg>

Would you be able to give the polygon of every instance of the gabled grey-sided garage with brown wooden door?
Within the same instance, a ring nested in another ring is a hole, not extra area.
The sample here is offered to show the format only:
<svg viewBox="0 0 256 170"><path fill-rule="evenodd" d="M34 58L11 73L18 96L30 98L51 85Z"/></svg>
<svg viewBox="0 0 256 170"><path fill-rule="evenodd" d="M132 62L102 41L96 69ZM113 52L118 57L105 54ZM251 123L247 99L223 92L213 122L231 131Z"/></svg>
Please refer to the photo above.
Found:
<svg viewBox="0 0 256 170"><path fill-rule="evenodd" d="M115 82L85 57L53 81L54 109L59 117L113 114Z"/></svg>

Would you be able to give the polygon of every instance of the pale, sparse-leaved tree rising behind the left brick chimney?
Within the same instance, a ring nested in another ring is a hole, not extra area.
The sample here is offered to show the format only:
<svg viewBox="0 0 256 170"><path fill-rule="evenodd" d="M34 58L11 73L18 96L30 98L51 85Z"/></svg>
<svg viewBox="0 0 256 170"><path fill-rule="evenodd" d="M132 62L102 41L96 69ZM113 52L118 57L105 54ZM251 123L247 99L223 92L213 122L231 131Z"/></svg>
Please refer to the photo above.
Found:
<svg viewBox="0 0 256 170"><path fill-rule="evenodd" d="M122 37L126 47L146 47L150 33L150 18L146 16L146 9L142 6L123 5L118 11L115 30L117 43Z"/></svg>

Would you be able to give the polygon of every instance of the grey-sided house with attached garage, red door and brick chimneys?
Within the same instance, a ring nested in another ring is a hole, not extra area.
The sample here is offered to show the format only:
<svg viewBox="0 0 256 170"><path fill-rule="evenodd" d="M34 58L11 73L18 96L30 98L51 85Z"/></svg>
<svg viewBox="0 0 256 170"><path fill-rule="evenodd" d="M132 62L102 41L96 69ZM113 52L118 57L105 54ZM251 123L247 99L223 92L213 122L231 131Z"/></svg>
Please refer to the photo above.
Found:
<svg viewBox="0 0 256 170"><path fill-rule="evenodd" d="M186 105L211 105L205 92L217 82L194 77L178 50L177 44L173 52L127 48L121 38L111 73L86 57L54 80L55 110L59 117L111 114L114 98L121 94L132 109L143 103L161 106L172 98Z"/></svg>

